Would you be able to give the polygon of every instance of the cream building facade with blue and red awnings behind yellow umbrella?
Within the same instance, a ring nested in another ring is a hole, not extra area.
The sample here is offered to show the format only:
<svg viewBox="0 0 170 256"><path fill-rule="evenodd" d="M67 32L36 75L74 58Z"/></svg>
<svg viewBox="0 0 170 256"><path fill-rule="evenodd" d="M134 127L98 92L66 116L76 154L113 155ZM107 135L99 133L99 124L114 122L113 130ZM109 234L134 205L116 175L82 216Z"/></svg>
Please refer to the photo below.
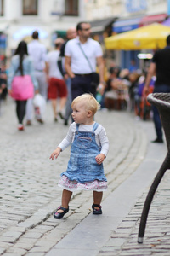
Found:
<svg viewBox="0 0 170 256"><path fill-rule="evenodd" d="M169 15L170 1L87 0L85 6L87 20L95 20L97 23L98 20L100 22L102 19L115 18L115 20L112 20L111 25L111 32L114 35L133 30L139 26L146 26L153 22L162 23ZM107 36L107 34L103 33L104 38ZM138 53L138 51L114 50L107 53L107 57L116 60L116 64L122 68L127 68L132 59L137 61L139 65Z"/></svg>

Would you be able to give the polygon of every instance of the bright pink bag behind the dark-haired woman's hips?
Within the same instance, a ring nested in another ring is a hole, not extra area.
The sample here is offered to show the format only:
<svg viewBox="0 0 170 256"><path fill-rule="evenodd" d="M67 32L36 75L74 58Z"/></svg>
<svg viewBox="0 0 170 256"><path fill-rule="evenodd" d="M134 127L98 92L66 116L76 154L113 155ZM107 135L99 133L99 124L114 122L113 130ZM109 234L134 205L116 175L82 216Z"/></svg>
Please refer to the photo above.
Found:
<svg viewBox="0 0 170 256"><path fill-rule="evenodd" d="M34 96L34 85L30 75L15 76L12 81L11 96L15 100L26 101Z"/></svg>

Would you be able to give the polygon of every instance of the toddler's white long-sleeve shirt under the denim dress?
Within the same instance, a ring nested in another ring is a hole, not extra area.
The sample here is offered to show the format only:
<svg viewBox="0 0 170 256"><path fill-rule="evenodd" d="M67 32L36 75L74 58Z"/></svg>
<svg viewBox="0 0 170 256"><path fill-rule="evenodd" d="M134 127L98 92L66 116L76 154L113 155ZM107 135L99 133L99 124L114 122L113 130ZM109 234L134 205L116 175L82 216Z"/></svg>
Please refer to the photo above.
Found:
<svg viewBox="0 0 170 256"><path fill-rule="evenodd" d="M93 131L93 125L79 125L78 131ZM77 124L74 122L69 127L69 131L67 132L66 137L59 143L59 148L65 150L74 140L75 132L77 131ZM108 154L109 151L109 140L105 132L105 128L102 125L99 125L98 128L94 131L95 133L95 140L98 146L101 147L101 154Z"/></svg>

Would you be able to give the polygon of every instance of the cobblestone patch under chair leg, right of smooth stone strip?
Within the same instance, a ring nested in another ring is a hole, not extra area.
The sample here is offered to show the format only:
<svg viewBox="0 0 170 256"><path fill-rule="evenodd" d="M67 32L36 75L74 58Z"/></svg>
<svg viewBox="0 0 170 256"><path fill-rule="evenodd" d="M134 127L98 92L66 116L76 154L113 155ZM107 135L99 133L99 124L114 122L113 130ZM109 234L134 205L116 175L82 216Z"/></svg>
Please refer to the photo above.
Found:
<svg viewBox="0 0 170 256"><path fill-rule="evenodd" d="M133 209L114 230L111 238L100 249L98 256L170 255L170 172L167 171L150 206L144 243L138 244L139 219L146 191Z"/></svg>

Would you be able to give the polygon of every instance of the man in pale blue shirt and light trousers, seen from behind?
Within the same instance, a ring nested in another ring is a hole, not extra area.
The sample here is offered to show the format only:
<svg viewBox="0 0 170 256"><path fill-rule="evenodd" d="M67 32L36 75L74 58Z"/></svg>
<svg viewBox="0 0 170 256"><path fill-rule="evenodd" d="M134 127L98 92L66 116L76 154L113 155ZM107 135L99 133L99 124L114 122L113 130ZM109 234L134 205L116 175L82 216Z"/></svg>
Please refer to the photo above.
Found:
<svg viewBox="0 0 170 256"><path fill-rule="evenodd" d="M32 33L32 41L28 44L28 53L33 58L35 76L38 83L39 93L47 100L48 83L46 77L47 70L47 49L39 41L39 34L37 31ZM32 119L32 100L28 100L26 106L27 125L31 125ZM43 124L42 117L38 116L37 121Z"/></svg>

